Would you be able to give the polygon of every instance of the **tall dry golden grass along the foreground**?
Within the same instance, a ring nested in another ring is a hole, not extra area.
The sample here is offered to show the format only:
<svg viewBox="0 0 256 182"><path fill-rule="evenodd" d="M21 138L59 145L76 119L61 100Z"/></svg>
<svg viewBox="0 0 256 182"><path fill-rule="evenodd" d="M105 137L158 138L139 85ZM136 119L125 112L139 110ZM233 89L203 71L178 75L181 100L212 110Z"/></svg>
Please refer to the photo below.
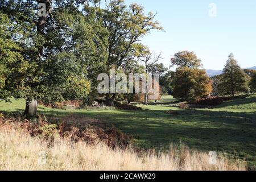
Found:
<svg viewBox="0 0 256 182"><path fill-rule="evenodd" d="M27 131L0 127L0 170L245 170L245 163L219 158L217 165L208 163L205 152L191 151L181 145L170 147L168 154L133 150L112 150L104 144L90 145L55 140L49 143L31 137ZM46 164L40 154L46 152Z"/></svg>

